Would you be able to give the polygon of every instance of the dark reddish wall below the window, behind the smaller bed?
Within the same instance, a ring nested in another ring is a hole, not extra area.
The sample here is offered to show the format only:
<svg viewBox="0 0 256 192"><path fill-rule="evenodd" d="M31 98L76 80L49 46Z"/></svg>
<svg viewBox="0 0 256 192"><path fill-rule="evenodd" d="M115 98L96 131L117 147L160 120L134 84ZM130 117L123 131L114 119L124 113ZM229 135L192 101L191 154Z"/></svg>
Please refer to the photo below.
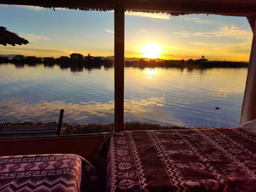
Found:
<svg viewBox="0 0 256 192"><path fill-rule="evenodd" d="M0 140L0 156L65 153L77 154L92 162L107 137L108 135L93 135Z"/></svg>

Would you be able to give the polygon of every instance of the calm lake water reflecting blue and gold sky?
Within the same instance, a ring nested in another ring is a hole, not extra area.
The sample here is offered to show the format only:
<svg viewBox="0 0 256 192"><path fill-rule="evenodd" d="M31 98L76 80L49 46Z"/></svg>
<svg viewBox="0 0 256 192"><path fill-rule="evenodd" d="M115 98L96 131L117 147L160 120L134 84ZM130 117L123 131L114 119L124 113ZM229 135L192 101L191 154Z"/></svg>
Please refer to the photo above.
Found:
<svg viewBox="0 0 256 192"><path fill-rule="evenodd" d="M246 68L125 68L125 122L236 127ZM215 110L219 107L218 110ZM0 122L114 122L114 68L0 65Z"/></svg>

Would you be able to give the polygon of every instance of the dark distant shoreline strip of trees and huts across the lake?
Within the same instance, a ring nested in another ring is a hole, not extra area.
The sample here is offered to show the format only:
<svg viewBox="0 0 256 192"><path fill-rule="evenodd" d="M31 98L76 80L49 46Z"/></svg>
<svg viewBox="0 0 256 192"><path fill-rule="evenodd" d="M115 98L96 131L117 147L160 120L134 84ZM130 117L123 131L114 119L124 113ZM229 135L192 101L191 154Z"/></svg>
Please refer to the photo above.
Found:
<svg viewBox="0 0 256 192"><path fill-rule="evenodd" d="M68 57L60 58L37 58L37 57L0 57L1 63L14 63L15 65L36 65L45 64L47 66L60 65L62 68L68 67L85 67L85 68L105 68L114 67L113 57L90 57L89 59L70 59ZM85 57L86 58L86 57ZM134 60L133 60L134 59ZM205 58L193 60L163 60L163 59L147 59L147 58L130 58L125 60L125 67L133 68L247 68L249 62L245 61L209 61Z"/></svg>

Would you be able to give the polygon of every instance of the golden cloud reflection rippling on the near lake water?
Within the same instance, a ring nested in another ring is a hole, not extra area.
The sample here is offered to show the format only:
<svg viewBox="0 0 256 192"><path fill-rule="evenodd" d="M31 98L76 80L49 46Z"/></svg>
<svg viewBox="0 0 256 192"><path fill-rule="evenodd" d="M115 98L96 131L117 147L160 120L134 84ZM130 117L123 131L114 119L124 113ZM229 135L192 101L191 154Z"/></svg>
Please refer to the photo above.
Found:
<svg viewBox="0 0 256 192"><path fill-rule="evenodd" d="M108 102L79 102L72 103L66 101L40 101L33 103L19 97L0 100L1 121L24 121L24 119L36 121L57 121L59 110L65 109L63 121L65 122L114 122L114 101ZM149 99L125 99L124 111L127 120L136 121L140 118L150 119L151 122L164 122L167 124L185 126L180 119L172 117L171 114L154 114L164 107L164 98ZM156 110L156 108L159 108ZM168 118L168 120L166 120Z"/></svg>

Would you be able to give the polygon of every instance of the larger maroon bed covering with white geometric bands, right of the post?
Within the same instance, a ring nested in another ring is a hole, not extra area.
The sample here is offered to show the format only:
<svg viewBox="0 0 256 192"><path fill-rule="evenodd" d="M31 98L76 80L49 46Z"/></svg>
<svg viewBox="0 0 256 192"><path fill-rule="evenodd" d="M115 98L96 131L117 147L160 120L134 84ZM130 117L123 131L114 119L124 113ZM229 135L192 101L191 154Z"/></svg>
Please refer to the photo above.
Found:
<svg viewBox="0 0 256 192"><path fill-rule="evenodd" d="M107 191L256 191L256 137L239 129L111 135Z"/></svg>

